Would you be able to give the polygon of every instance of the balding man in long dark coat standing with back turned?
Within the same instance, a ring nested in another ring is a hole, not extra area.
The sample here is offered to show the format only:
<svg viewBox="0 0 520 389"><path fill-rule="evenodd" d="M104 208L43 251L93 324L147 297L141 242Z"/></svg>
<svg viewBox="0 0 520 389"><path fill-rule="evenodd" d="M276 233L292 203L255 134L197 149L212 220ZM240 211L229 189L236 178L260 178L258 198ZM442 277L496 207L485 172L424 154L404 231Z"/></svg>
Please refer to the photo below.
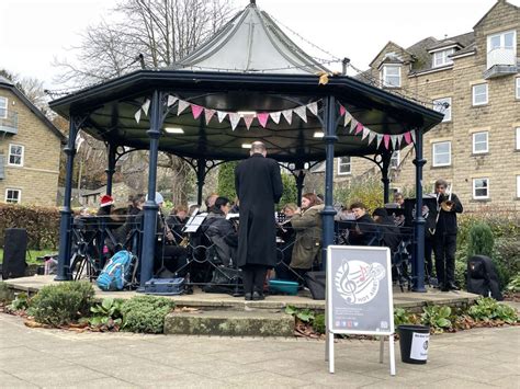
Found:
<svg viewBox="0 0 520 389"><path fill-rule="evenodd" d="M237 262L246 300L260 300L268 268L276 264L274 204L282 197L283 184L276 161L265 158L265 145L252 142L249 153L235 169L240 202Z"/></svg>

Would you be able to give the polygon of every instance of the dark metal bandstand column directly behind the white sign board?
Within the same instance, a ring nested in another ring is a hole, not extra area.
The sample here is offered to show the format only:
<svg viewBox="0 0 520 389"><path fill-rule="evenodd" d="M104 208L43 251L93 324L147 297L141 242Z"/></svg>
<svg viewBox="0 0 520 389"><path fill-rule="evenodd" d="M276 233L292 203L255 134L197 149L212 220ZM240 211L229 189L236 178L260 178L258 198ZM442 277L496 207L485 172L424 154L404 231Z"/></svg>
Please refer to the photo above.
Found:
<svg viewBox="0 0 520 389"><path fill-rule="evenodd" d="M334 145L338 140L336 136L337 112L336 99L327 96L324 99L324 140L325 140L325 208L321 211L323 218L323 259L321 266L325 268L325 259L327 258L327 248L334 243L334 217L336 209L332 206L332 186L334 186Z"/></svg>

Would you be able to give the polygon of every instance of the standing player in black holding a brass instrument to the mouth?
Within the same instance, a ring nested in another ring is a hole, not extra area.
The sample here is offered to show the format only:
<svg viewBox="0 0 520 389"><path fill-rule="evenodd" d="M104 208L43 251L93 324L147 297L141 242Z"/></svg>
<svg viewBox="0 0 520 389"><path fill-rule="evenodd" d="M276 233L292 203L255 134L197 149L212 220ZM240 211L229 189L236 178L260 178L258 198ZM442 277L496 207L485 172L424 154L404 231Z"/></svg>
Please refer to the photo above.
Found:
<svg viewBox="0 0 520 389"><path fill-rule="evenodd" d="M459 290L455 285L456 214L463 208L459 197L444 180L436 181L437 224L433 233L433 253L439 288Z"/></svg>

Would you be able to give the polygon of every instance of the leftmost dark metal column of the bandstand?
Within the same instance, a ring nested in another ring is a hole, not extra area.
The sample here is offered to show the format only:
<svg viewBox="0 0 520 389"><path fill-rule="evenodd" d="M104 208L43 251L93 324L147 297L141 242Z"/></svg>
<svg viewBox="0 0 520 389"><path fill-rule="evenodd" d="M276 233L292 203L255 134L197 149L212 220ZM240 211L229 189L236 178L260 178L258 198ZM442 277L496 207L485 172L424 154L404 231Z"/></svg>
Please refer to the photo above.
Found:
<svg viewBox="0 0 520 389"><path fill-rule="evenodd" d="M82 126L86 116L71 116L69 122L69 138L64 152L67 155L67 165L65 175L65 194L64 207L59 211L61 219L59 222L59 256L58 256L58 274L54 279L68 281L70 279L70 250L71 250L71 225L72 225L72 209L70 208L70 197L72 195L72 172L74 158L76 156L76 136Z"/></svg>

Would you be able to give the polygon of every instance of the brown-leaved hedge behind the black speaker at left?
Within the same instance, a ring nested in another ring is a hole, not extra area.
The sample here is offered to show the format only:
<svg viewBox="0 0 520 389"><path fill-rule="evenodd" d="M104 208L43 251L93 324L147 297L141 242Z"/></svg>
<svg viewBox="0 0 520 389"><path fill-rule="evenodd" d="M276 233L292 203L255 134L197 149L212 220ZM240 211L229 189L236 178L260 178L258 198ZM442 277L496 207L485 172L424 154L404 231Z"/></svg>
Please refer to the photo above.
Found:
<svg viewBox="0 0 520 389"><path fill-rule="evenodd" d="M57 249L59 242L59 209L0 203L0 247L7 228L25 228L29 249Z"/></svg>

